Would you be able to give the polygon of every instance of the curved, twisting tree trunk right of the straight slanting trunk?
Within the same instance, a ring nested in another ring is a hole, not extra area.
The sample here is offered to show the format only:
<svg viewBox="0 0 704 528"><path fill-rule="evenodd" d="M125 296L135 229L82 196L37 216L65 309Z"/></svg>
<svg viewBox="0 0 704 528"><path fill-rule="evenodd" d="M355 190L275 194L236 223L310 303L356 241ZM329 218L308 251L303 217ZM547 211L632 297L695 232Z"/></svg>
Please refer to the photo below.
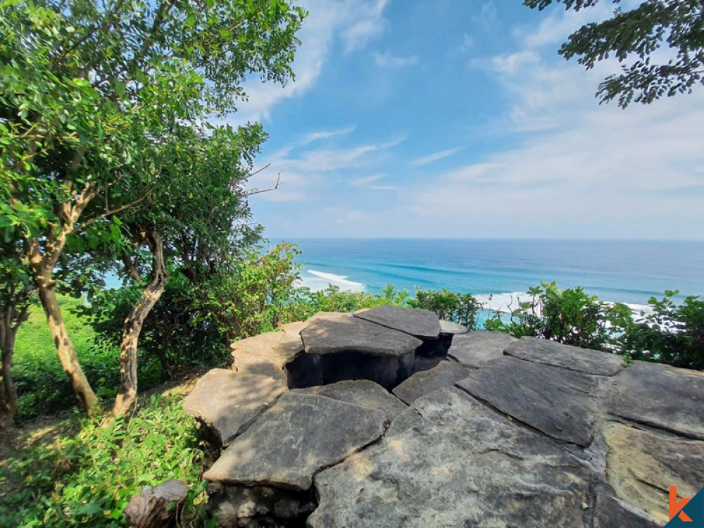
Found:
<svg viewBox="0 0 704 528"><path fill-rule="evenodd" d="M151 308L161 298L166 282L169 279L164 264L161 238L155 230L145 234L146 242L152 253L151 280L146 285L139 301L134 305L125 319L122 327L122 343L120 344L120 392L115 398L113 415L127 413L137 400L137 344L142 325ZM131 273L131 275L134 275Z"/></svg>

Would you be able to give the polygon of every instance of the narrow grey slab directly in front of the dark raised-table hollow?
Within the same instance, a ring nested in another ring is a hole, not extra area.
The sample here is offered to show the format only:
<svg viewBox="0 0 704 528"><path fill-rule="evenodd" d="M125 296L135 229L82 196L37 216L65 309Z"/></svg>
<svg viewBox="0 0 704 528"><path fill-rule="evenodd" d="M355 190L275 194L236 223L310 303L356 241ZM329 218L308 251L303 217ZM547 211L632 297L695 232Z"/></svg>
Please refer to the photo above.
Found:
<svg viewBox="0 0 704 528"><path fill-rule="evenodd" d="M367 379L337 382L330 385L312 386L308 389L296 389L296 394L317 394L334 400L353 403L367 409L377 409L384 413L386 423L391 423L396 416L408 409L405 403L375 382Z"/></svg>

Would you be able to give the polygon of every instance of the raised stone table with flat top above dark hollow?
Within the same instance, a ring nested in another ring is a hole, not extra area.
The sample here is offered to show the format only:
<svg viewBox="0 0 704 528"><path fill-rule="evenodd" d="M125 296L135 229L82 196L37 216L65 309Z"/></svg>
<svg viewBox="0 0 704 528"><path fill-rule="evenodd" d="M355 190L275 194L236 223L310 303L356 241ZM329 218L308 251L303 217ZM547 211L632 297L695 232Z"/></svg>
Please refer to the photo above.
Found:
<svg viewBox="0 0 704 528"><path fill-rule="evenodd" d="M390 389L413 372L415 349L422 344L351 314L321 313L301 331L308 355L320 357L325 384L370 379Z"/></svg>

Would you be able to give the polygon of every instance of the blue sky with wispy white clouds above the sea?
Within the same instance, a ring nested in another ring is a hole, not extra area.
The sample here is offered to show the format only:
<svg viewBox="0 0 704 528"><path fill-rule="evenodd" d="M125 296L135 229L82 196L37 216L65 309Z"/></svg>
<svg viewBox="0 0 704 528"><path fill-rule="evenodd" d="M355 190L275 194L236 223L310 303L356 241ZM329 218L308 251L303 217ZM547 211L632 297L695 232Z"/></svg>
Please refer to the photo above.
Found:
<svg viewBox="0 0 704 528"><path fill-rule="evenodd" d="M230 117L270 134L250 181L280 174L250 199L270 239L704 238L704 89L600 105L618 64L558 56L610 2L299 4L296 80L251 80Z"/></svg>

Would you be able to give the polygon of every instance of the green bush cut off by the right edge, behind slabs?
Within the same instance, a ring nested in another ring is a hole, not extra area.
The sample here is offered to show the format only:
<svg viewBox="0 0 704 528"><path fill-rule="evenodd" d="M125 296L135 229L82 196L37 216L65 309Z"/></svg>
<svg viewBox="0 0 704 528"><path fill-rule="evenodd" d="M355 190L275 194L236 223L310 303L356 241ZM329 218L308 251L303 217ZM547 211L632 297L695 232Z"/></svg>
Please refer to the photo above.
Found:
<svg viewBox="0 0 704 528"><path fill-rule="evenodd" d="M629 327L624 348L633 359L704 370L704 300L688 296L677 306L672 301L677 294L650 298L651 309Z"/></svg>

